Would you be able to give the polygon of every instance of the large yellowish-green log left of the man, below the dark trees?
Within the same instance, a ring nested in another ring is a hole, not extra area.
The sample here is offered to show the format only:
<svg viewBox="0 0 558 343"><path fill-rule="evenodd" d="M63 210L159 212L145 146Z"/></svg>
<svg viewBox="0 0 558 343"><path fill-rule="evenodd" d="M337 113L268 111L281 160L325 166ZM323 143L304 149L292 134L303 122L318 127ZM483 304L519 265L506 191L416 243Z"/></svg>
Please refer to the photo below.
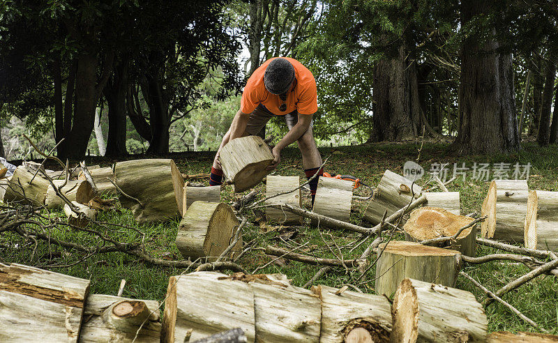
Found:
<svg viewBox="0 0 558 343"><path fill-rule="evenodd" d="M184 179L173 160L116 162L114 178L122 192L135 198L120 197L122 206L132 210L137 222L163 221L181 215Z"/></svg>

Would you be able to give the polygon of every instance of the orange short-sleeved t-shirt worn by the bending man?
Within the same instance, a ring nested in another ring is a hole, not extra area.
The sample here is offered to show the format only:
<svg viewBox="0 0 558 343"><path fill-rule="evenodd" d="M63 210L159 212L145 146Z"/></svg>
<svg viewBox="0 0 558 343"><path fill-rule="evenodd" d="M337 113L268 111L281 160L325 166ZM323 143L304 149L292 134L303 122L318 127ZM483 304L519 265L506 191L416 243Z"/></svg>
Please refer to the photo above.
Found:
<svg viewBox="0 0 558 343"><path fill-rule="evenodd" d="M273 59L277 58L278 57L274 57ZM269 112L278 116L291 113L295 109L299 114L315 114L318 110L318 104L314 75L312 75L310 70L303 66L302 63L289 57L282 57L282 59L286 59L294 67L296 85L294 89L287 93L287 101L285 101L287 110L285 112L279 110L283 101L278 95L269 93L264 85L266 68L273 59L269 59L265 61L262 66L259 66L254 73L252 73L248 82L246 82L246 87L244 87L242 93L240 110L243 113L250 114L256 109L257 105L262 104Z"/></svg>

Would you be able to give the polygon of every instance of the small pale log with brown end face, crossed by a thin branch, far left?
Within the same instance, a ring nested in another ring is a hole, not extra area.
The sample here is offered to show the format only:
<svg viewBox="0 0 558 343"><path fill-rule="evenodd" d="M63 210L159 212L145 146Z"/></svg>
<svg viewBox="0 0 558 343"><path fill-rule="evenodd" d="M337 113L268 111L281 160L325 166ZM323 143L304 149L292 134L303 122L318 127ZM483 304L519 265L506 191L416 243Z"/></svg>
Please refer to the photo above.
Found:
<svg viewBox="0 0 558 343"><path fill-rule="evenodd" d="M52 181L59 188L59 191L70 201L77 201L79 204L87 204L89 200L95 197L95 192L91 188L91 183L85 180L70 180L64 185L64 180ZM62 188L61 185L64 185ZM52 185L47 188L47 197L45 198L47 208L62 207L66 204L61 197L56 195Z"/></svg>

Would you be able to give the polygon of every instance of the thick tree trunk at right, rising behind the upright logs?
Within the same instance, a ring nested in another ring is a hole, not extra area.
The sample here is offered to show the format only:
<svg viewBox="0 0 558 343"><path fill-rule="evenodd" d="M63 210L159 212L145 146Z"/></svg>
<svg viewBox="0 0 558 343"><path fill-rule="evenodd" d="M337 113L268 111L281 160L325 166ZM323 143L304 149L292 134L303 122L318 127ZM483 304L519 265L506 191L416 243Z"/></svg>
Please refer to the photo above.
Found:
<svg viewBox="0 0 558 343"><path fill-rule="evenodd" d="M462 1L462 26L489 6L480 0ZM520 139L511 54L498 52L494 38L485 43L479 40L472 36L462 46L460 128L452 148L460 154L517 151Z"/></svg>

